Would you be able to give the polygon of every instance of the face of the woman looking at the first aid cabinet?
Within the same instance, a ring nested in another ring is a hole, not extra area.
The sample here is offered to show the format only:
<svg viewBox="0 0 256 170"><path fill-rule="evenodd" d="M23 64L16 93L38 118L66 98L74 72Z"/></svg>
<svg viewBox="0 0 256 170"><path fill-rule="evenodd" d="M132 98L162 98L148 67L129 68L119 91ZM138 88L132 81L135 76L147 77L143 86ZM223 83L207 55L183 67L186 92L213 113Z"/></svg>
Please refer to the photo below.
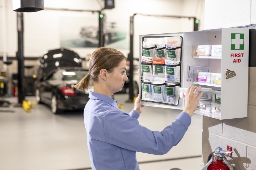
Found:
<svg viewBox="0 0 256 170"><path fill-rule="evenodd" d="M117 67L113 69L113 72L110 73L110 77L108 79L108 87L110 91L113 93L121 91L125 85L125 81L128 80L126 75L126 61L125 59L119 63Z"/></svg>

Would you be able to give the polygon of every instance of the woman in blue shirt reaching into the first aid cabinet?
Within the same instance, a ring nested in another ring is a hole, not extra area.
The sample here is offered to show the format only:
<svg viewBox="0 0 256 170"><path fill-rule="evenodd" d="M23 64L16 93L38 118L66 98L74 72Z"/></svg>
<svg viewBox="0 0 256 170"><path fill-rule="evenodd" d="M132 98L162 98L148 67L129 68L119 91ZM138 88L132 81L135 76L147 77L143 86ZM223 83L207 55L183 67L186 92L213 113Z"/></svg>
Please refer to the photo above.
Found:
<svg viewBox="0 0 256 170"><path fill-rule="evenodd" d="M90 100L84 109L93 170L139 170L136 152L167 153L184 136L203 94L201 92L197 96L201 87L189 87L184 111L163 131L151 131L137 120L144 107L140 104L140 95L129 114L120 111L117 101L111 99L124 87L128 79L125 71L124 54L113 48L101 47L91 55L88 75L75 85L82 91L88 89L91 80L94 85L94 92L90 91Z"/></svg>

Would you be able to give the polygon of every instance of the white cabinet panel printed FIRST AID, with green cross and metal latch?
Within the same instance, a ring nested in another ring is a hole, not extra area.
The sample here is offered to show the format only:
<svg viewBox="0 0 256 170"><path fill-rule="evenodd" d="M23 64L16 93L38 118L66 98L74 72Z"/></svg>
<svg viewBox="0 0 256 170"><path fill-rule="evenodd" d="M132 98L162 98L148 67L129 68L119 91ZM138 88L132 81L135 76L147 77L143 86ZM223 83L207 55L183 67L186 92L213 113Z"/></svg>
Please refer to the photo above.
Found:
<svg viewBox="0 0 256 170"><path fill-rule="evenodd" d="M247 117L249 29L222 29L221 119ZM226 70L236 73L226 79Z"/></svg>

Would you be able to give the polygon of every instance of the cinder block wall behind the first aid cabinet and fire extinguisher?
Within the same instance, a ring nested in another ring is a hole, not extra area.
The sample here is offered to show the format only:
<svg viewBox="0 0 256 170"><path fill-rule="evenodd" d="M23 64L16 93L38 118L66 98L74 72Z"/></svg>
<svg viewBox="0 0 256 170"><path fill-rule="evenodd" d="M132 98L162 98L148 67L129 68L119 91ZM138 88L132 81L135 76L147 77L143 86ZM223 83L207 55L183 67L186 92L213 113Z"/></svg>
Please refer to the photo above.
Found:
<svg viewBox="0 0 256 170"><path fill-rule="evenodd" d="M256 24L255 9L256 0L205 0L205 29ZM248 76L247 118L216 120L203 116L202 166L210 152L229 145L233 154L227 158L234 170L256 170L256 67L249 67ZM237 99L232 100L239 100L243 89L236 92Z"/></svg>

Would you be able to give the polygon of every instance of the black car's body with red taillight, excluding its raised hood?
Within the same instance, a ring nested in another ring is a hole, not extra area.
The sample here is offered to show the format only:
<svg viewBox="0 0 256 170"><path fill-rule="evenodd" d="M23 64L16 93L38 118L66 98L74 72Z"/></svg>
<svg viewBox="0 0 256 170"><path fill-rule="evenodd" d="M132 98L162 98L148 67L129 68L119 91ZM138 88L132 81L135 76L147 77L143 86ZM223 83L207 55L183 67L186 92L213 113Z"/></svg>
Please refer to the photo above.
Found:
<svg viewBox="0 0 256 170"><path fill-rule="evenodd" d="M89 90L81 92L74 88L88 70L82 67L59 67L37 84L35 96L38 103L51 106L54 114L63 110L83 109L89 100Z"/></svg>

